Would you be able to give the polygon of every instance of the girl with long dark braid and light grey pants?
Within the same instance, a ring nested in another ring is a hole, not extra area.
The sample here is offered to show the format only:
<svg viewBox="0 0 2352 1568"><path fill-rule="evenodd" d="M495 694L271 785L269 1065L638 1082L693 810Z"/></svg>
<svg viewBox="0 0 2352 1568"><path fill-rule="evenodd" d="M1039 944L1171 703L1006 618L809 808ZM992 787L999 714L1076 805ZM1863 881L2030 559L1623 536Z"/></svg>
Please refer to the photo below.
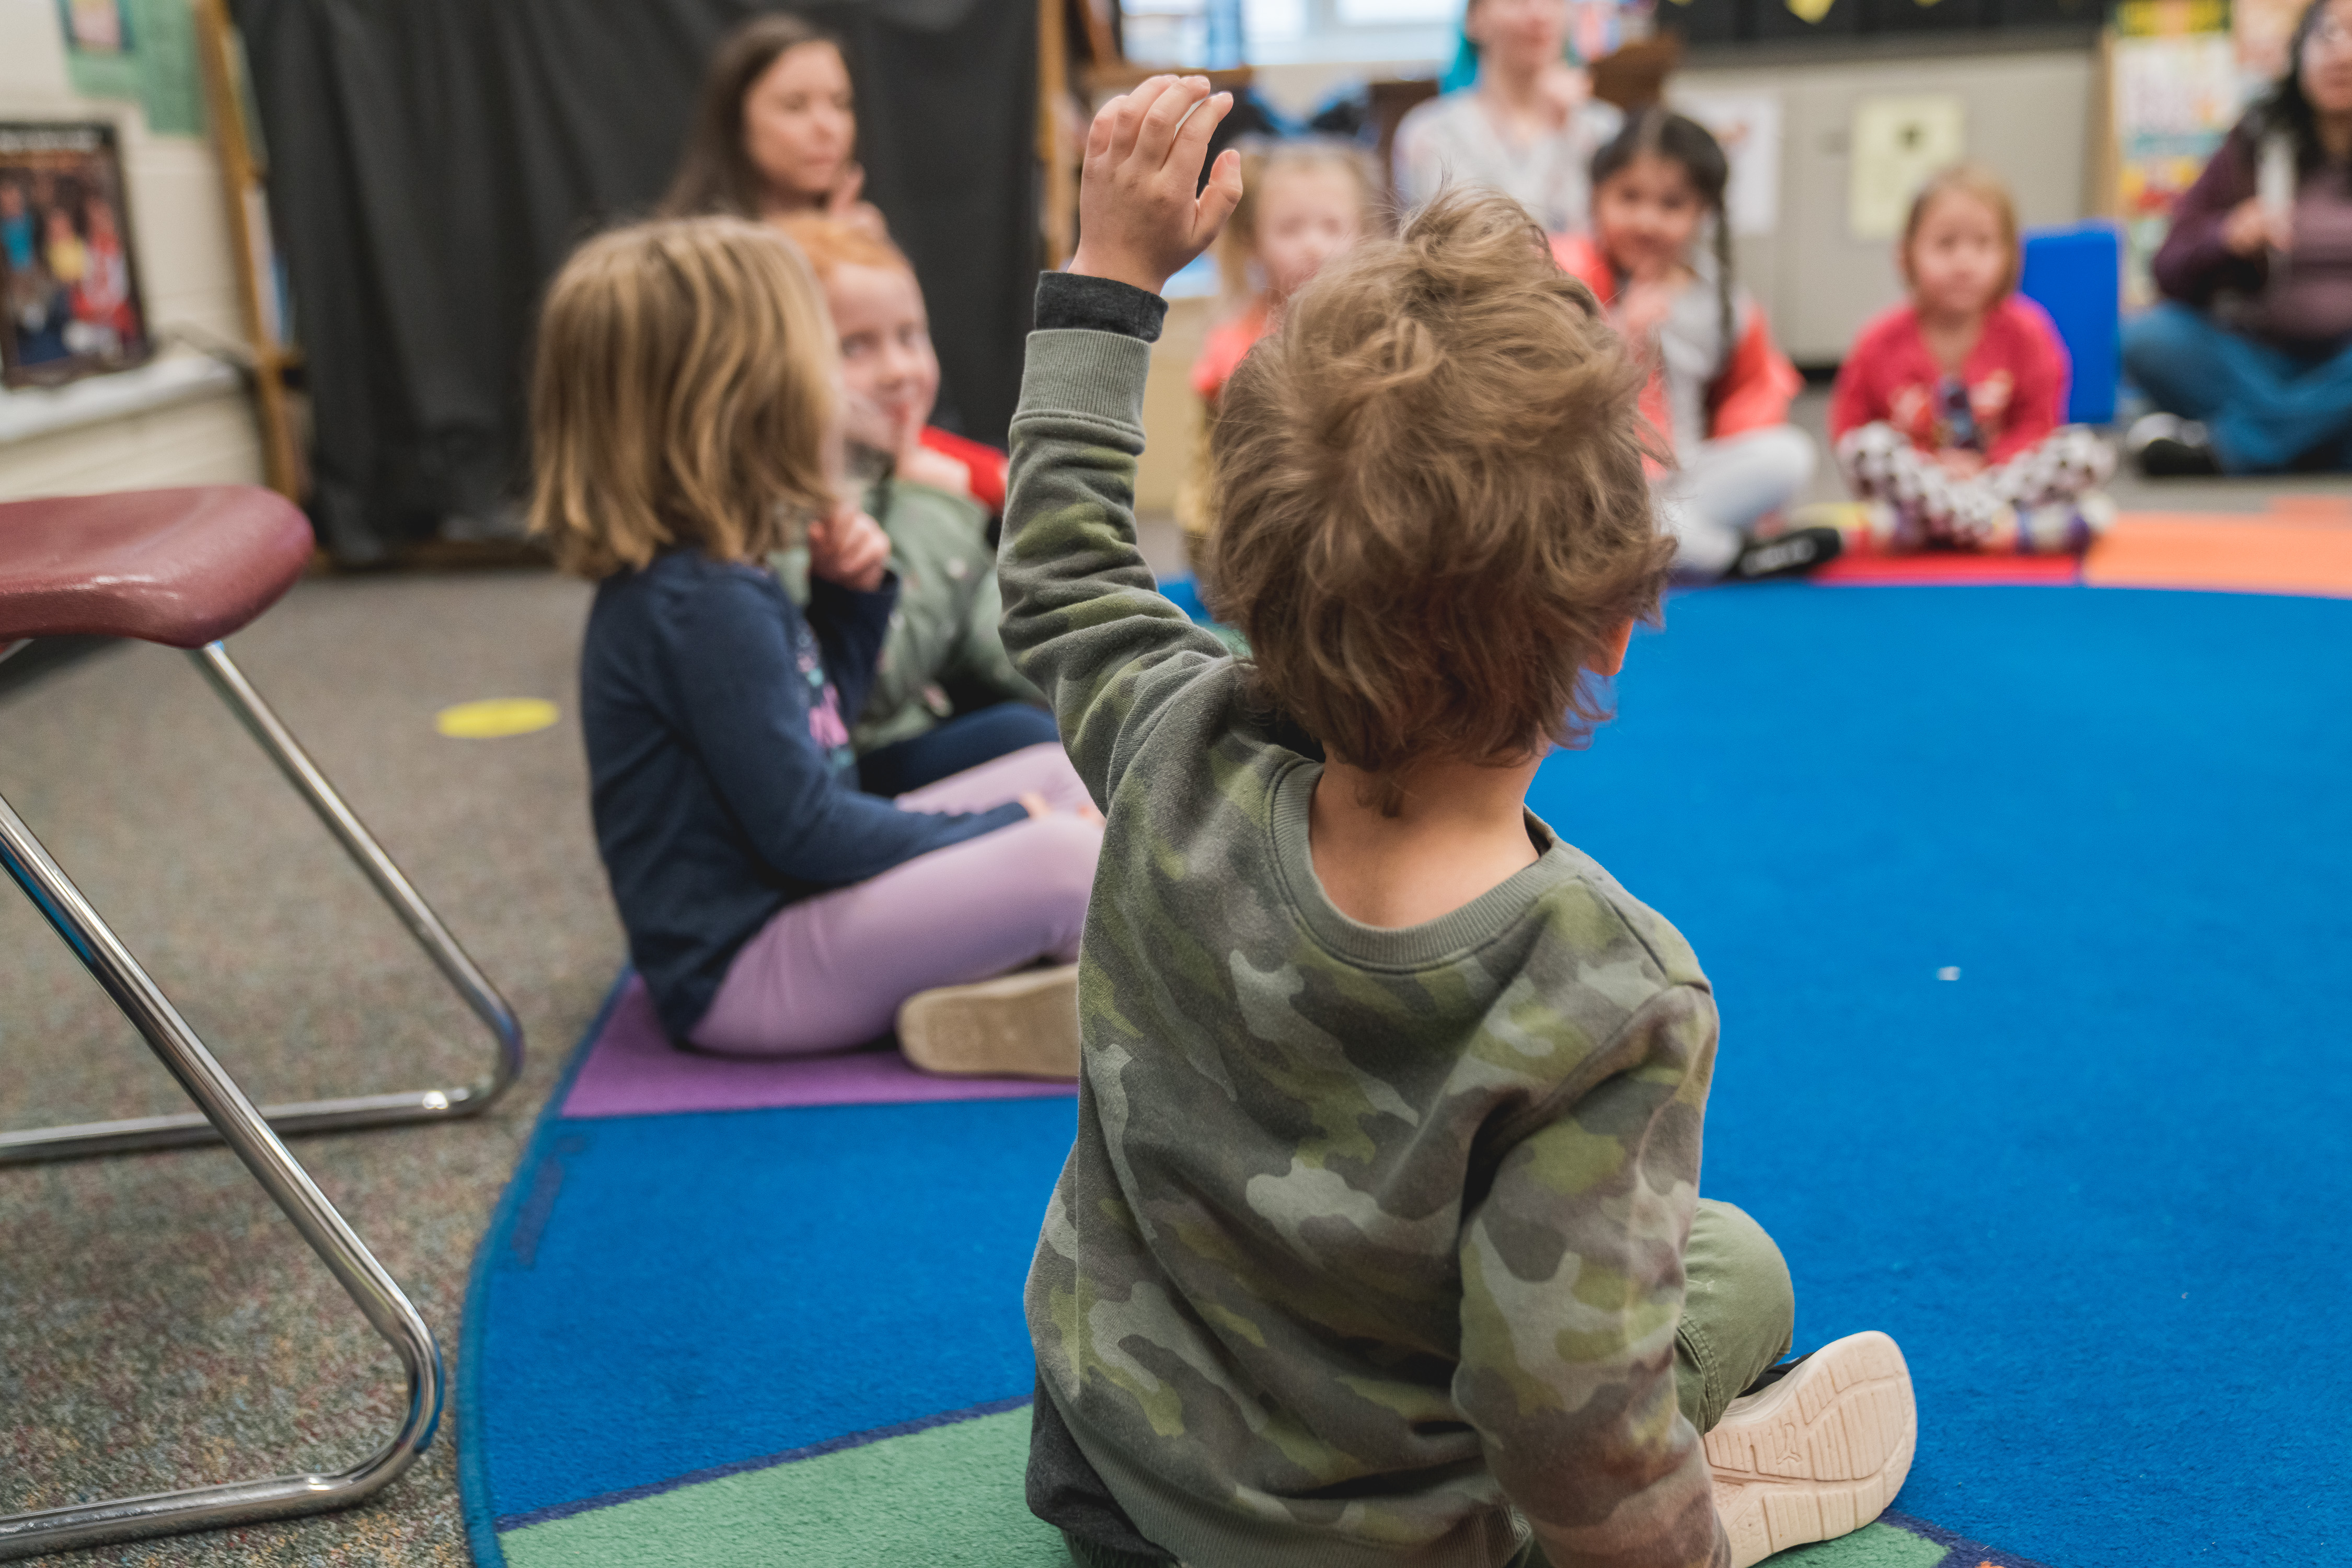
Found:
<svg viewBox="0 0 2352 1568"><path fill-rule="evenodd" d="M1813 442L1788 423L1797 369L1731 280L1729 183L1708 127L1646 108L1592 158L1592 237L1552 240L1649 369L1642 414L1675 454L1651 473L1658 515L1682 545L1675 574L1696 581L1811 571L1839 550L1835 529L1769 527L1813 477Z"/></svg>

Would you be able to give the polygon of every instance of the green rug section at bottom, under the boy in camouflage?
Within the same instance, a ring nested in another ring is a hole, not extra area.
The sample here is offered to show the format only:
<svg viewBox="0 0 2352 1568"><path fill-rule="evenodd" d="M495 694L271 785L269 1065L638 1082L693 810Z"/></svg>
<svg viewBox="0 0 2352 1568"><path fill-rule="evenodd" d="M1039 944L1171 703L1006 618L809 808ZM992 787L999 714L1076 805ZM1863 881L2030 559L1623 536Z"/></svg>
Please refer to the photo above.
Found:
<svg viewBox="0 0 2352 1568"><path fill-rule="evenodd" d="M1002 1410L750 1469L499 1537L508 1568L1070 1568L1021 1497L1030 1413ZM1785 1568L1936 1568L1945 1549L1872 1523ZM1973 1563L1971 1563L1973 1568Z"/></svg>

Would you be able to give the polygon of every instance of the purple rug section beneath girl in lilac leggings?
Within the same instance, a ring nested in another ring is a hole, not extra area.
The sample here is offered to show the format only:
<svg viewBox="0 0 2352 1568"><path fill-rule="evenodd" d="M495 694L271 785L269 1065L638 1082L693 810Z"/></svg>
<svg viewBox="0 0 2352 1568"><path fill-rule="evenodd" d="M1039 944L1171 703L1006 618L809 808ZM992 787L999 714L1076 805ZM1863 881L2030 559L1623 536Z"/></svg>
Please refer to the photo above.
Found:
<svg viewBox="0 0 2352 1568"><path fill-rule="evenodd" d="M680 1051L661 1034L644 980L630 976L572 1079L564 1117L661 1117L774 1105L1035 1100L1077 1093L1058 1079L941 1079L896 1051L748 1060Z"/></svg>

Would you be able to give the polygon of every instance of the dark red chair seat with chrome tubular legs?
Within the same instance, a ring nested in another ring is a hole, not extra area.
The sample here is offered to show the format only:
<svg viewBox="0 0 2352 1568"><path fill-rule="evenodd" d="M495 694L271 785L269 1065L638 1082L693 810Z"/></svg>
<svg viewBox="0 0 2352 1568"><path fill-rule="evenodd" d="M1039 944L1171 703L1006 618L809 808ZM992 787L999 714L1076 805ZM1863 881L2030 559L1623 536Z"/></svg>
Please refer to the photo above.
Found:
<svg viewBox="0 0 2352 1568"><path fill-rule="evenodd" d="M256 1110L24 818L0 799L0 870L26 891L198 1105L176 1117L0 1133L0 1164L221 1138L390 1342L407 1371L407 1415L383 1448L339 1474L233 1481L5 1516L0 1559L348 1507L407 1469L440 1422L442 1363L433 1331L287 1152L280 1133L477 1114L522 1070L522 1030L513 1009L221 646L221 637L285 597L308 562L310 524L285 498L254 487L0 503L0 658L33 637L66 635L136 637L186 649L489 1030L489 1072L456 1088Z"/></svg>

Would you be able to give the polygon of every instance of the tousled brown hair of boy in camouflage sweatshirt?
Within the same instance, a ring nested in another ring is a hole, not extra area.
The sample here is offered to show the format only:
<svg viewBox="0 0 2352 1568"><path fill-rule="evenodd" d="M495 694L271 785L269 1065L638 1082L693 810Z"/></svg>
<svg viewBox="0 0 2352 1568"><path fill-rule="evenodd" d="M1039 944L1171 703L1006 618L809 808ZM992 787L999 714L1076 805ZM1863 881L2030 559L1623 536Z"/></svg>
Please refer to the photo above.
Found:
<svg viewBox="0 0 2352 1568"><path fill-rule="evenodd" d="M1479 193L1336 259L1235 371L1211 609L1383 809L1418 759L1517 762L1606 717L1592 670L1675 555L1637 390L1543 230Z"/></svg>

